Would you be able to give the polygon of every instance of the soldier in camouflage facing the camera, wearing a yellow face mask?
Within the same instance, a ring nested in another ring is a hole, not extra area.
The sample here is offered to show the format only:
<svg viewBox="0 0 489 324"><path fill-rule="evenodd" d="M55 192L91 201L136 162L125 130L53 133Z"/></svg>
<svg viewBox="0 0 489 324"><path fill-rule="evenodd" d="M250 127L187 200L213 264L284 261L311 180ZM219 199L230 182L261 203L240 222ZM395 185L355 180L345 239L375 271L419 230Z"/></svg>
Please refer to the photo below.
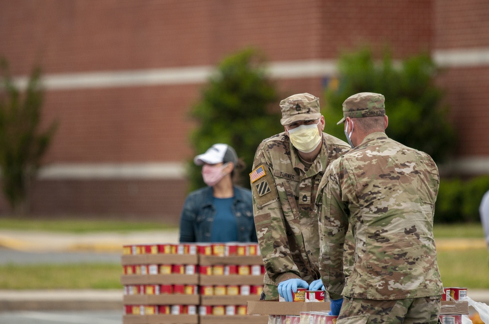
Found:
<svg viewBox="0 0 489 324"><path fill-rule="evenodd" d="M280 107L285 132L261 142L250 173L255 227L266 269L262 299L267 300L278 299L277 285L289 279L321 284L314 212L317 187L326 166L350 149L346 142L322 133L318 98L297 94L281 101Z"/></svg>

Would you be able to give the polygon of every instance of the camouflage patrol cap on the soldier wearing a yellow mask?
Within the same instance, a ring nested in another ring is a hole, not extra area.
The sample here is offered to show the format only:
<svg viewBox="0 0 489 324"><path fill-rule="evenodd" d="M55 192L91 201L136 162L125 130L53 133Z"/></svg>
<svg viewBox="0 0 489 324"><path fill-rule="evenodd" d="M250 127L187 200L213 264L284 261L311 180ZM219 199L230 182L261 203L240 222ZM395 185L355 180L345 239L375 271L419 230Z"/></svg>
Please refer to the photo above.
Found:
<svg viewBox="0 0 489 324"><path fill-rule="evenodd" d="M282 110L282 125L295 121L311 121L321 117L319 113L319 98L309 93L299 93L280 101Z"/></svg>

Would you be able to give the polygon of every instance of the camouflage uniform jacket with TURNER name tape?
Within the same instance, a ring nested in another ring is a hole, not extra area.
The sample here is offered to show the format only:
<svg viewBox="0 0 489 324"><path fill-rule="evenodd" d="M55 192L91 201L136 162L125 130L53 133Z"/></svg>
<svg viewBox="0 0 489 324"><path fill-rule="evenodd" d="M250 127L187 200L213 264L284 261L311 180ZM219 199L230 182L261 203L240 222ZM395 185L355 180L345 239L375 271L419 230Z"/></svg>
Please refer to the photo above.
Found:
<svg viewBox="0 0 489 324"><path fill-rule="evenodd" d="M326 166L349 149L346 142L322 133L321 151L306 171L285 132L258 146L250 181L265 284L320 278L317 188Z"/></svg>

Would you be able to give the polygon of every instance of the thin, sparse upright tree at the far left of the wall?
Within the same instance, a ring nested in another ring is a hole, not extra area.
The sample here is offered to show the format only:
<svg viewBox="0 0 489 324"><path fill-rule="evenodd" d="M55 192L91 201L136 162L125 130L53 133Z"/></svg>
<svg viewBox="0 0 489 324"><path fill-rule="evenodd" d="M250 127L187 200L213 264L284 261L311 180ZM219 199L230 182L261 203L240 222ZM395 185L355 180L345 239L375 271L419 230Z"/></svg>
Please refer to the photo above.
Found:
<svg viewBox="0 0 489 324"><path fill-rule="evenodd" d="M57 123L39 131L43 89L41 71L33 70L24 94L0 61L0 168L3 193L15 213L28 212L29 187L54 135Z"/></svg>

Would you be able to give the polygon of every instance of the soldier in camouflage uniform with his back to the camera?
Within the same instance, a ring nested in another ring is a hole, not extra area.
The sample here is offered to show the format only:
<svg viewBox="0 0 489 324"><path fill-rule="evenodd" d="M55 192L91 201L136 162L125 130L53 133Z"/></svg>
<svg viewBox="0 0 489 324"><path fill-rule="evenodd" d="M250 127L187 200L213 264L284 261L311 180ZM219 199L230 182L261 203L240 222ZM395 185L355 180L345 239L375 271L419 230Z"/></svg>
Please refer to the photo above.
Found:
<svg viewBox="0 0 489 324"><path fill-rule="evenodd" d="M443 293L433 239L437 166L387 137L384 96L353 95L343 116L338 124L345 122L356 147L330 164L317 195L322 280L332 300L345 297L336 323L437 323ZM349 226L356 260L345 280Z"/></svg>

